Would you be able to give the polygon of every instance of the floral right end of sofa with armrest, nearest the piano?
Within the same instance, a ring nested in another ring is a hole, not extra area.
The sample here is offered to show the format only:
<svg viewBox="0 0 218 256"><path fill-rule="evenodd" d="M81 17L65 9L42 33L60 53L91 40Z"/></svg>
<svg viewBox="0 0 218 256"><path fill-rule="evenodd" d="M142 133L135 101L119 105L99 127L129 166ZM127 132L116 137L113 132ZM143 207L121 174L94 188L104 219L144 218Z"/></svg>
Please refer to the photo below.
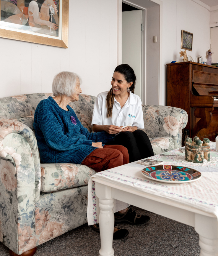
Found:
<svg viewBox="0 0 218 256"><path fill-rule="evenodd" d="M172 137L175 148L181 147L182 129L188 122L188 114L181 108L142 105L144 132L149 138Z"/></svg>

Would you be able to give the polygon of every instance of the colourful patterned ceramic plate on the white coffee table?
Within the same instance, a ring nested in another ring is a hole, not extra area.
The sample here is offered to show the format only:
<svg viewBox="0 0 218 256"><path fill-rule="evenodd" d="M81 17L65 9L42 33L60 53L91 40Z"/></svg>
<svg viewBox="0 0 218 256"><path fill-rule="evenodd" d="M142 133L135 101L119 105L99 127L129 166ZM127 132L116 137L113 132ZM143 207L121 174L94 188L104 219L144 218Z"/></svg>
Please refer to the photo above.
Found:
<svg viewBox="0 0 218 256"><path fill-rule="evenodd" d="M185 183L201 178L201 173L178 165L156 165L144 168L141 173L152 180L166 183Z"/></svg>

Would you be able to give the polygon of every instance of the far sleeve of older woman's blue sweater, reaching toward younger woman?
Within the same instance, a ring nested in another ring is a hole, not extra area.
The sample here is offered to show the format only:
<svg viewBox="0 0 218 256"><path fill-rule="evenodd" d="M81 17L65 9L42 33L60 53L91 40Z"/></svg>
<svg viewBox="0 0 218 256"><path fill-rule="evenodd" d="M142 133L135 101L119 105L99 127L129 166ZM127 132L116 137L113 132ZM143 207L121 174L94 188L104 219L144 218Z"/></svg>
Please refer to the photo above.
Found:
<svg viewBox="0 0 218 256"><path fill-rule="evenodd" d="M76 114L75 114L76 116ZM85 128L81 122L79 121L79 119L76 116L76 121L77 121L77 125L79 124L80 126L80 132L82 135L85 135L87 140L92 140L92 142L102 142L104 143L108 143L110 141L113 141L114 138L111 134L108 134L107 132L89 132L87 128Z"/></svg>

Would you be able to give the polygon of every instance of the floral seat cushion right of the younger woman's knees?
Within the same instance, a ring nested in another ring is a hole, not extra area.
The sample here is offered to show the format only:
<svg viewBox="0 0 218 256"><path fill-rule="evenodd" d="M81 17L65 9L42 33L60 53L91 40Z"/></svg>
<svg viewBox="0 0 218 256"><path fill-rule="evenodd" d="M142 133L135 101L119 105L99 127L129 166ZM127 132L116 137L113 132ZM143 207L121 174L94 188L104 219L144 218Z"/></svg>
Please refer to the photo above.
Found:
<svg viewBox="0 0 218 256"><path fill-rule="evenodd" d="M149 139L152 144L154 155L158 155L163 152L167 152L174 149L174 143L172 137L156 137Z"/></svg>

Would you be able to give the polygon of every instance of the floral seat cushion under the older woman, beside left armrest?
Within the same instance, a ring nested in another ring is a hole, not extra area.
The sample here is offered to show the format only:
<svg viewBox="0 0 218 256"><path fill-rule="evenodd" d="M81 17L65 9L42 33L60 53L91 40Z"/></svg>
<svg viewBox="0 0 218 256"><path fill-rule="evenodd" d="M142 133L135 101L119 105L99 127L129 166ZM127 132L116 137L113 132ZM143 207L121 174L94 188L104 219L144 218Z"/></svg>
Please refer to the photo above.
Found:
<svg viewBox="0 0 218 256"><path fill-rule="evenodd" d="M41 191L86 185L93 174L93 169L82 164L41 164Z"/></svg>

